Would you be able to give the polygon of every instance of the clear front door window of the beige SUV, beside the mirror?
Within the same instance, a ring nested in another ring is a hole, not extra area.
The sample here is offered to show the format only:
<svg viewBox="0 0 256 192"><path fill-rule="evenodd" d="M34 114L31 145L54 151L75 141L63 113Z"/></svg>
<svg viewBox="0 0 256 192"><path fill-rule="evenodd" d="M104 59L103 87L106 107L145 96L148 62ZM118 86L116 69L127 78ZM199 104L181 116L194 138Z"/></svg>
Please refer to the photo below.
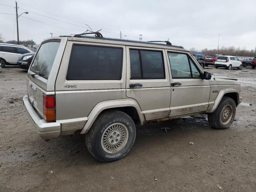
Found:
<svg viewBox="0 0 256 192"><path fill-rule="evenodd" d="M168 52L172 78L200 78L200 72L187 54Z"/></svg>

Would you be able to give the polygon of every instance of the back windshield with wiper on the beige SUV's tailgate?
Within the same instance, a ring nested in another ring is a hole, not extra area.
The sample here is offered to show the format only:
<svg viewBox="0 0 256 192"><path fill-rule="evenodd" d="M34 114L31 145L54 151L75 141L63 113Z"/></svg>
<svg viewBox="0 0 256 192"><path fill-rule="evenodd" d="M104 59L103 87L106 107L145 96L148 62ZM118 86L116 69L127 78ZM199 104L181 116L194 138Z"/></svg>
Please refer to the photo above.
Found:
<svg viewBox="0 0 256 192"><path fill-rule="evenodd" d="M47 42L42 44L36 54L30 70L33 72L39 72L42 74L40 76L48 79L59 45L60 42Z"/></svg>

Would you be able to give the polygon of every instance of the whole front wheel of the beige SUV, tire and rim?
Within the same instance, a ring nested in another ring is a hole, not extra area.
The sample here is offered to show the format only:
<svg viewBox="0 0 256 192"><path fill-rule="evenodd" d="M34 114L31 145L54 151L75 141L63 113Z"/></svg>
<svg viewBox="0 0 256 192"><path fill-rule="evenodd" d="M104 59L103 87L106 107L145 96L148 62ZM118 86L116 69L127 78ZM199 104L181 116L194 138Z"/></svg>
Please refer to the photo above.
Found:
<svg viewBox="0 0 256 192"><path fill-rule="evenodd" d="M208 122L214 129L229 128L236 115L236 103L224 96L213 113L208 114Z"/></svg>

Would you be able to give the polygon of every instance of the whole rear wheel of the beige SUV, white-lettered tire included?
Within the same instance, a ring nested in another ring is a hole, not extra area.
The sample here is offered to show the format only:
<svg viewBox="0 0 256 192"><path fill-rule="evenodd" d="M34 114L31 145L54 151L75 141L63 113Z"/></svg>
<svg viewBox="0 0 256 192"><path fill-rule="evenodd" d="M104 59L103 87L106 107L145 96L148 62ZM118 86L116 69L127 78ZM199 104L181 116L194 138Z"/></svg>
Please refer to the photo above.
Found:
<svg viewBox="0 0 256 192"><path fill-rule="evenodd" d="M134 121L119 110L103 112L86 134L88 151L101 162L124 157L132 148L136 137Z"/></svg>

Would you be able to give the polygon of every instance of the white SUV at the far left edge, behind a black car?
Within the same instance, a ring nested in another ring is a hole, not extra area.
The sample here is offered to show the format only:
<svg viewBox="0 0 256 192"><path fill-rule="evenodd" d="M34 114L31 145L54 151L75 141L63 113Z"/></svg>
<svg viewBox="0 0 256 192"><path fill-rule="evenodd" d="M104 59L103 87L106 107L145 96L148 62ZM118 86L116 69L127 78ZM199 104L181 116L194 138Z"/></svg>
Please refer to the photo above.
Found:
<svg viewBox="0 0 256 192"><path fill-rule="evenodd" d="M5 65L18 65L18 57L29 52L34 53L32 50L21 45L0 43L0 64L2 68Z"/></svg>

